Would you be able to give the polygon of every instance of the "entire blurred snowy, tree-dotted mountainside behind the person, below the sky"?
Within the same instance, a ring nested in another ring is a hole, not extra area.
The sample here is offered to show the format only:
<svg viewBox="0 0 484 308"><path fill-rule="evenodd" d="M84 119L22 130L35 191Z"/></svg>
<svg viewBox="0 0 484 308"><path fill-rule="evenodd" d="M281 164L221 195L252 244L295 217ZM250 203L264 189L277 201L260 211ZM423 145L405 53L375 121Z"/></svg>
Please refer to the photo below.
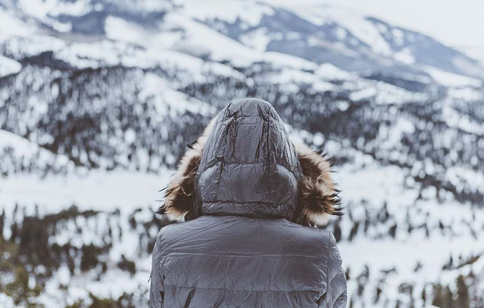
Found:
<svg viewBox="0 0 484 308"><path fill-rule="evenodd" d="M350 306L483 307L471 56L332 6L0 0L0 306L146 305L157 190L257 97L334 157Z"/></svg>

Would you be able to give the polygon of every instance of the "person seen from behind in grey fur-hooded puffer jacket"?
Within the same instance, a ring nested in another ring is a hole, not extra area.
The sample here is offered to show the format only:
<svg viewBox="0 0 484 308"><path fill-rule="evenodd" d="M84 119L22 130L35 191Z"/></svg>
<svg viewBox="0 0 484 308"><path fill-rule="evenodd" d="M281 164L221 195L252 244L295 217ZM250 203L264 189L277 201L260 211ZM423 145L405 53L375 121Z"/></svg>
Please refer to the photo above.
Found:
<svg viewBox="0 0 484 308"><path fill-rule="evenodd" d="M231 102L181 159L159 213L150 305L328 307L347 303L330 163L291 141L267 102Z"/></svg>

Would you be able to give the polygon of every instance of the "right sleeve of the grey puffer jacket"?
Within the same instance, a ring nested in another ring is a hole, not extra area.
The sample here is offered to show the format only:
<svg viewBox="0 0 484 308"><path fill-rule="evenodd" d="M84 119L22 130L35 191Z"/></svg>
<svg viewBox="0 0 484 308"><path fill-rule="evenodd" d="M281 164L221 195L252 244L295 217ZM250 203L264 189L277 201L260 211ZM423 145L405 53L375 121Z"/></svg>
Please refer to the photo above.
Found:
<svg viewBox="0 0 484 308"><path fill-rule="evenodd" d="M325 300L319 305L327 308L346 308L348 301L346 275L341 266L342 260L339 254L336 240L331 232L328 239L328 281Z"/></svg>

